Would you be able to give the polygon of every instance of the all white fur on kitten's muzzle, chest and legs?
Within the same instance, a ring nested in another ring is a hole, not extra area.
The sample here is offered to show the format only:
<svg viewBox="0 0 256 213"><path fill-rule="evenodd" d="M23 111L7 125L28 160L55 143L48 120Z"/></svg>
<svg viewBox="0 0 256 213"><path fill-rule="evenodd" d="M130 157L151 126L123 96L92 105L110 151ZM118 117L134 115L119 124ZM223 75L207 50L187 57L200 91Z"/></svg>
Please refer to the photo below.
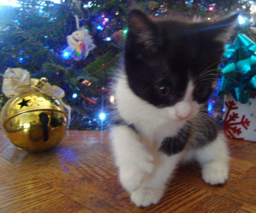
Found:
<svg viewBox="0 0 256 213"><path fill-rule="evenodd" d="M165 137L175 135L187 119L198 113L200 106L192 99L193 89L190 81L182 101L160 109L137 97L128 87L125 76L118 78L117 110L140 134L119 125L113 127L111 138L120 181L136 206L149 206L161 199L166 182L181 160L197 160L202 166L203 179L210 184L223 183L227 179L228 149L221 134L198 150L185 149L172 156L159 151Z"/></svg>

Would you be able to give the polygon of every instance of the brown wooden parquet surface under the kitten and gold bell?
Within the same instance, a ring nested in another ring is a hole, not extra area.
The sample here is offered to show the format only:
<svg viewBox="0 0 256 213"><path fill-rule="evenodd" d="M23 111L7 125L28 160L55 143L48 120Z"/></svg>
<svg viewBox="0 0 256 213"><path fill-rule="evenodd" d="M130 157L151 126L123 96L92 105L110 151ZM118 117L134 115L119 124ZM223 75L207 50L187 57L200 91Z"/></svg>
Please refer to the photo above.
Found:
<svg viewBox="0 0 256 213"><path fill-rule="evenodd" d="M182 166L159 204L137 208L118 182L108 134L70 131L51 151L28 154L0 131L0 212L256 213L256 143L228 141L225 185L204 183L196 164Z"/></svg>

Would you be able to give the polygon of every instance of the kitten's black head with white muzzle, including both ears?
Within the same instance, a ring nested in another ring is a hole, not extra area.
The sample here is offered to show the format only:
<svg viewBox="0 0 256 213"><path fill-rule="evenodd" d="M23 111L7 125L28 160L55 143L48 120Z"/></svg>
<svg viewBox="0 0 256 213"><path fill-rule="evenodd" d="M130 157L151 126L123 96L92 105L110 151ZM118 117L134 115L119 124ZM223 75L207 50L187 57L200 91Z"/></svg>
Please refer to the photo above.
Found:
<svg viewBox="0 0 256 213"><path fill-rule="evenodd" d="M153 21L140 10L129 16L125 69L135 95L173 120L194 117L212 92L218 62L237 15L220 21Z"/></svg>

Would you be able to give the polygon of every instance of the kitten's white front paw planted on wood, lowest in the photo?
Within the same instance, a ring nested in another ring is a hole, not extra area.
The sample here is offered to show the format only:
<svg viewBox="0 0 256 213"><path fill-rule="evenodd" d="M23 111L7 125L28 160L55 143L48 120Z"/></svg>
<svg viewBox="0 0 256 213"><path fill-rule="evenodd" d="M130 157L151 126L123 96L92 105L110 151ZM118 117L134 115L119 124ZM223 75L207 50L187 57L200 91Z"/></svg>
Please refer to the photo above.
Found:
<svg viewBox="0 0 256 213"><path fill-rule="evenodd" d="M136 206L149 206L158 203L163 194L164 190L139 188L131 194L130 198Z"/></svg>

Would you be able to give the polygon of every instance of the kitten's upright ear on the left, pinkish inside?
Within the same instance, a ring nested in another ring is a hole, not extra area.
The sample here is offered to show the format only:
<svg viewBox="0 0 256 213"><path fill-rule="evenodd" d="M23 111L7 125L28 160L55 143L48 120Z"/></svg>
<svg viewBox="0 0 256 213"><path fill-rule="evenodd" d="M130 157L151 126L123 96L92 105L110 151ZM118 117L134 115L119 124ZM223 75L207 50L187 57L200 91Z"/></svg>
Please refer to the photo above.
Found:
<svg viewBox="0 0 256 213"><path fill-rule="evenodd" d="M157 38L158 27L149 17L139 9L133 9L129 14L128 33L133 36L135 43L151 49Z"/></svg>

